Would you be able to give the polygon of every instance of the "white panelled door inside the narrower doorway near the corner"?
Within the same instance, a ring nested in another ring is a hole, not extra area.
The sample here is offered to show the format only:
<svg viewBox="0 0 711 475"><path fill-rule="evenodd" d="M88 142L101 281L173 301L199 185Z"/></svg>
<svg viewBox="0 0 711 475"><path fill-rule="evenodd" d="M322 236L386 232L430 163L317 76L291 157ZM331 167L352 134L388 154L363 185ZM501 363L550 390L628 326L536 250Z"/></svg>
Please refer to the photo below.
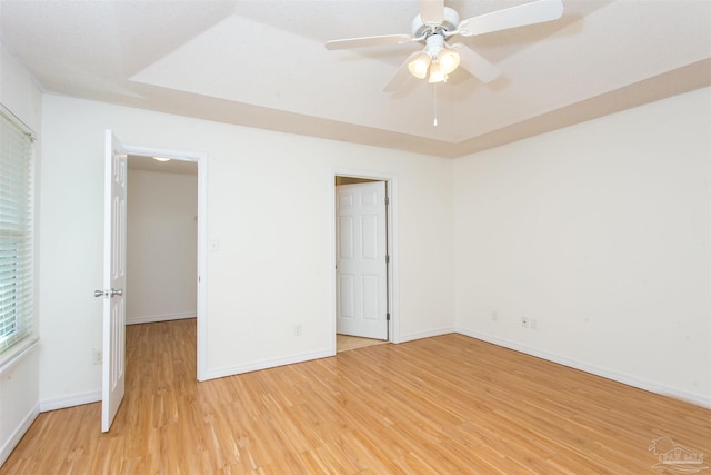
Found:
<svg viewBox="0 0 711 475"><path fill-rule="evenodd" d="M388 338L385 182L336 187L336 331Z"/></svg>

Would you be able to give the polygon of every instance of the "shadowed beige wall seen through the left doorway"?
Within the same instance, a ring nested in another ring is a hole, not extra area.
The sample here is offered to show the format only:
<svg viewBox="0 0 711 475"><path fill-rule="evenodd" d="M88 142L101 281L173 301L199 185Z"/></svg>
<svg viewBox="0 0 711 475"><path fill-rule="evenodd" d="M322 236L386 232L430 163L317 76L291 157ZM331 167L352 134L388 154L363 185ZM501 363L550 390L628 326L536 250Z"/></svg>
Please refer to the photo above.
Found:
<svg viewBox="0 0 711 475"><path fill-rule="evenodd" d="M129 169L127 324L197 315L197 169L196 175Z"/></svg>

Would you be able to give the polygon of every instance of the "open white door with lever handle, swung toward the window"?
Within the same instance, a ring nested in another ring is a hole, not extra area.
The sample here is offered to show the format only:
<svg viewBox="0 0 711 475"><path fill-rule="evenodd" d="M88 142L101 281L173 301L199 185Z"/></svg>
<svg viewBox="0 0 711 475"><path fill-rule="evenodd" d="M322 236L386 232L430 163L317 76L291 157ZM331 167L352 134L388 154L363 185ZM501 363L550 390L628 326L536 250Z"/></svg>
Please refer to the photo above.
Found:
<svg viewBox="0 0 711 475"><path fill-rule="evenodd" d="M108 432L124 392L126 180L123 146L107 130L103 204L103 373L101 432ZM98 294L99 291L97 291Z"/></svg>

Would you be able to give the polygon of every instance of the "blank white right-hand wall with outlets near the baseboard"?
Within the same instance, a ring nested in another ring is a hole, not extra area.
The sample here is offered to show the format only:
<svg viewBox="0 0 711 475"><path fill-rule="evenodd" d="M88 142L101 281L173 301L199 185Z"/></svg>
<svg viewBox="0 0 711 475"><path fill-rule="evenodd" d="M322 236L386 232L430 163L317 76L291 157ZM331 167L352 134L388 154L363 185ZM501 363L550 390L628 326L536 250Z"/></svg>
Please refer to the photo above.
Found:
<svg viewBox="0 0 711 475"><path fill-rule="evenodd" d="M455 160L458 328L711 406L710 97Z"/></svg>

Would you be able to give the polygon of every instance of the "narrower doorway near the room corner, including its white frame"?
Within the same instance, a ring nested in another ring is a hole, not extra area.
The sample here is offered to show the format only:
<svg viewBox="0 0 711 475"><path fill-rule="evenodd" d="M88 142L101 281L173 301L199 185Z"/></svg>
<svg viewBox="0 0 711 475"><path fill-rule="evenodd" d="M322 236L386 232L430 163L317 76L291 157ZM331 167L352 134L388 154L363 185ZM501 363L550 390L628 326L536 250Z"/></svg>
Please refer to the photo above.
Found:
<svg viewBox="0 0 711 475"><path fill-rule="evenodd" d="M333 175L336 353L394 342L394 178Z"/></svg>

